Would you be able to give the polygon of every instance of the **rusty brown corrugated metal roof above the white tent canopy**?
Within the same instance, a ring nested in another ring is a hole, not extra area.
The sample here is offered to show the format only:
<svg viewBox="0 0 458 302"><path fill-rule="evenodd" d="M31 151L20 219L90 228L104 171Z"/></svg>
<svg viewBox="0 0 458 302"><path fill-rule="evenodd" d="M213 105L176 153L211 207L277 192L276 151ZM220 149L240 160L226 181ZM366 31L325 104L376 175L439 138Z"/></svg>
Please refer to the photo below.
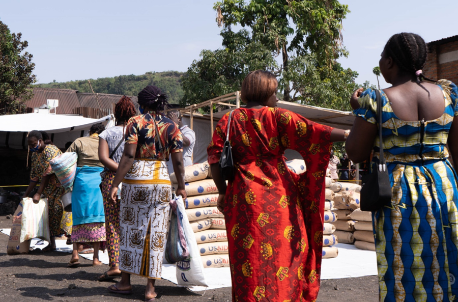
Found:
<svg viewBox="0 0 458 302"><path fill-rule="evenodd" d="M100 107L112 111L113 104L117 103L122 95L98 93ZM129 96L138 107L138 98ZM47 99L59 100L56 114L72 114L73 108L91 107L99 108L96 96L93 93L80 93L71 89L34 88L34 96L26 102L26 107L35 108L47 103Z"/></svg>

